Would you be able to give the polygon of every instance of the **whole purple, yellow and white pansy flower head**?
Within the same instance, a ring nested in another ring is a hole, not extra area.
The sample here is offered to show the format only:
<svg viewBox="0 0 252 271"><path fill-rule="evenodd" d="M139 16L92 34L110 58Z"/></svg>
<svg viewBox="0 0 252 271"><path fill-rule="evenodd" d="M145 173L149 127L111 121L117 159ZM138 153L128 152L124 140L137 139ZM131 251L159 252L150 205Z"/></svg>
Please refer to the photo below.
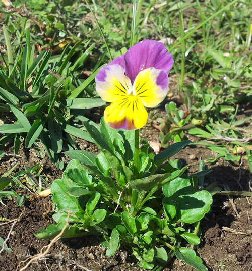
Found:
<svg viewBox="0 0 252 271"><path fill-rule="evenodd" d="M105 122L114 129L143 127L148 119L145 107L157 106L167 95L172 64L164 44L147 39L101 68L96 91L111 102L104 111Z"/></svg>

